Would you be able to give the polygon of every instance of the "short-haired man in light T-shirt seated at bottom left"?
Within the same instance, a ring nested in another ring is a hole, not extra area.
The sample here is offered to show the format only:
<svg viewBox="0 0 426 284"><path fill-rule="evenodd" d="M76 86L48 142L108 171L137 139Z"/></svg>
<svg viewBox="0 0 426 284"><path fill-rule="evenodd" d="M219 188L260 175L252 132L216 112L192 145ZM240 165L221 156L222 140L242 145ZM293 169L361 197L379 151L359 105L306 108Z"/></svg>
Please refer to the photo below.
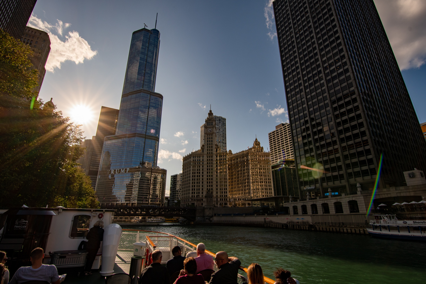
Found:
<svg viewBox="0 0 426 284"><path fill-rule="evenodd" d="M41 247L36 247L31 252L31 266L19 267L12 277L10 284L20 284L27 281L46 281L59 284L60 277L55 265L43 264L44 253Z"/></svg>

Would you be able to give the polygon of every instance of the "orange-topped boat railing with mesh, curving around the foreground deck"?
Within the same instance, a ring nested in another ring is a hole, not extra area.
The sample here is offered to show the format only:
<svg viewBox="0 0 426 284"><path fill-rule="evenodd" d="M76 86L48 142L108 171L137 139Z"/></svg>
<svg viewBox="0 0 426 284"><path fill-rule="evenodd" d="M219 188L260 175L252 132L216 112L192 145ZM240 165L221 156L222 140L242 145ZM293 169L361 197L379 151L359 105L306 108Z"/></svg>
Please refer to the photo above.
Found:
<svg viewBox="0 0 426 284"><path fill-rule="evenodd" d="M190 243L189 241L179 238L175 235L164 233L164 232L155 232L155 231L144 231L144 230L134 230L134 229L123 229L121 235L120 243L118 245L119 252L133 252L133 244L135 242L145 242L146 248L148 248L148 253L152 253L154 250L161 250L163 255L167 255L168 258L173 258L172 248L174 246L179 246L182 249L182 255L186 255L187 252L196 252L197 245ZM215 258L215 254L206 250L206 253ZM167 260L166 260L167 261ZM165 263L165 261L164 261ZM240 266L240 270L247 273L247 268ZM214 264L214 270L218 270L216 266L216 261ZM275 281L265 277L265 283L273 284ZM238 283L242 284L248 282L247 278L244 275L238 274Z"/></svg>

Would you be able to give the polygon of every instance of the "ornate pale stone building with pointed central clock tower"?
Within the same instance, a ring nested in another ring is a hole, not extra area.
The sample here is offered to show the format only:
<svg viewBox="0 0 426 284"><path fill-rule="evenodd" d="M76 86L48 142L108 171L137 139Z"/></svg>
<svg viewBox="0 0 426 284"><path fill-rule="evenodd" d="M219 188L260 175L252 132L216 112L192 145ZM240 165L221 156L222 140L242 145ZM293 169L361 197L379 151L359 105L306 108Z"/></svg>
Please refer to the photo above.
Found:
<svg viewBox="0 0 426 284"><path fill-rule="evenodd" d="M210 109L204 145L182 159L181 206L229 206L227 152L217 143L216 119Z"/></svg>

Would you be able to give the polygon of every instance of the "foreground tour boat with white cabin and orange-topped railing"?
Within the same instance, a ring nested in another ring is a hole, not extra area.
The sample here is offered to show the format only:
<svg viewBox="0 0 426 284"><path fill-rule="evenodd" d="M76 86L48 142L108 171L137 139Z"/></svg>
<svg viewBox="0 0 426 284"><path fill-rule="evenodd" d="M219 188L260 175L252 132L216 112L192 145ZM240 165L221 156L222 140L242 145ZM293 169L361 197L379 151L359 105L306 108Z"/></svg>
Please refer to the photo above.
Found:
<svg viewBox="0 0 426 284"><path fill-rule="evenodd" d="M173 258L171 249L176 245L181 247L182 255L196 252L196 244L175 235L122 229L120 225L112 223L114 211L64 207L10 208L3 213L6 215L6 221L0 228L0 250L7 253L11 276L19 267L31 265L29 255L35 247L42 247L46 252L44 264L54 264L58 269L80 267L82 271L86 263L87 251L78 250L78 248L81 241L86 241L85 236L89 229L99 220L104 221L104 238L92 269L99 269L102 263L101 271L99 271L102 276L109 276L121 270L127 273L132 271L134 275L131 277L139 276L141 270L150 264L150 255L154 250L161 250L162 264ZM206 250L206 253L213 258L215 256L213 252ZM133 256L139 257L139 263L135 264L132 270ZM116 262L117 259L127 259L127 262L122 265L123 262ZM217 270L216 264L215 270ZM240 270L247 273L245 267L240 266ZM244 275L238 274L238 281L244 283L247 279ZM85 279L81 279L81 283L84 282ZM265 277L265 283L273 284L274 281Z"/></svg>

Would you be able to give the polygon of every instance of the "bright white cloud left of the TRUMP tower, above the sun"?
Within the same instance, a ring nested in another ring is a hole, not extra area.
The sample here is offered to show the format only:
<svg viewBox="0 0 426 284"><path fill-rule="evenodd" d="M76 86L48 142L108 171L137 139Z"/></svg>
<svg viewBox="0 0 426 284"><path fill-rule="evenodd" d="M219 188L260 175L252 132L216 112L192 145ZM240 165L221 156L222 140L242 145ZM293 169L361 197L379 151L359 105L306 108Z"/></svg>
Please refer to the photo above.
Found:
<svg viewBox="0 0 426 284"><path fill-rule="evenodd" d="M64 24L61 20L58 20L58 23L53 26L37 18L37 15L32 14L27 25L49 34L50 53L45 66L47 71L55 72L55 68L60 69L60 64L66 60L74 61L75 64L83 63L84 59L90 60L98 53L96 50L92 50L89 43L78 32L68 32L68 35L65 36L65 41L60 40L56 34L53 34L53 32L56 32L62 36L63 29L71 26L69 23Z"/></svg>

